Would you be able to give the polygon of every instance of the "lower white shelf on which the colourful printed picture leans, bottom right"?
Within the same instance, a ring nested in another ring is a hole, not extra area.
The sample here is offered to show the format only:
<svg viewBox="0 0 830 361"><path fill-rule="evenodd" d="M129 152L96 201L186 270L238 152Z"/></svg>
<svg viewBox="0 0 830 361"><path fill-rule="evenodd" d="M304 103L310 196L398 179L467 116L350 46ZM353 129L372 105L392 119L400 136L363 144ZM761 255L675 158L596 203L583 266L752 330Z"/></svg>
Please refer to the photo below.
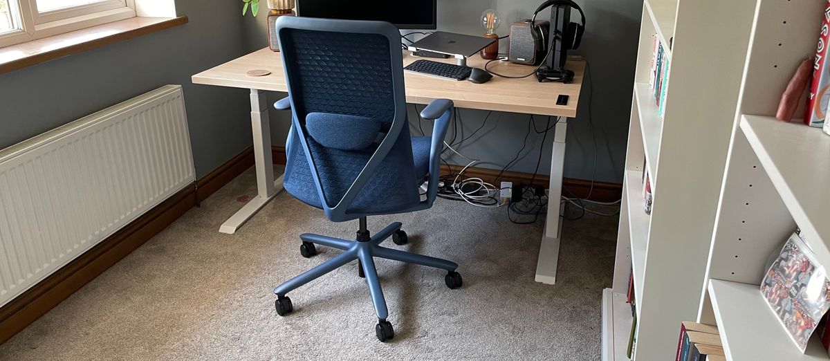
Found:
<svg viewBox="0 0 830 361"><path fill-rule="evenodd" d="M789 339L778 318L769 310L758 285L711 280L709 295L715 312L720 342L726 359L826 361L830 359L818 338L813 337L807 352ZM763 347L759 347L763 346Z"/></svg>

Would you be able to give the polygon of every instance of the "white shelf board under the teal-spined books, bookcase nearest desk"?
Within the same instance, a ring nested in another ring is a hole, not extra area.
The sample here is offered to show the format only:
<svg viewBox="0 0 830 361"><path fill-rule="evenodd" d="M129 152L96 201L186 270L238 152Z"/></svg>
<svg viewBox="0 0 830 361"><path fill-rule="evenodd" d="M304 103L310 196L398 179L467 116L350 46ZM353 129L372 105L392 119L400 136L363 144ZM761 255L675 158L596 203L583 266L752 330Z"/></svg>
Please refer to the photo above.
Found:
<svg viewBox="0 0 830 361"><path fill-rule="evenodd" d="M647 83L635 83L634 96L637 98L637 111L640 116L640 130L646 163L648 163L648 173L653 175L653 179L657 176L657 157L660 154L663 120L657 112L657 100L654 100L652 90L649 89Z"/></svg>

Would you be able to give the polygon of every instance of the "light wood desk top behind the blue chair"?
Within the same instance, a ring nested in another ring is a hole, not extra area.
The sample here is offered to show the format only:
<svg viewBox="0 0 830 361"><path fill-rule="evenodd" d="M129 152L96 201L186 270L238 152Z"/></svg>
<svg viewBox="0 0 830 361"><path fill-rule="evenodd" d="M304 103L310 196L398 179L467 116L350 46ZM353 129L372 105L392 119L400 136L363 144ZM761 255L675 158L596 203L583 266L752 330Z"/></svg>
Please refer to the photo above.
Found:
<svg viewBox="0 0 830 361"><path fill-rule="evenodd" d="M422 59L403 51L403 65ZM433 59L455 63L455 59ZM473 56L467 65L484 68L485 60ZM507 79L494 76L484 84L474 84L467 80L445 80L433 76L423 76L404 72L407 89L407 102L429 104L432 100L446 98L452 100L459 108L497 110L533 115L554 115L573 118L579 103L579 91L582 89L585 62L571 58L568 68L576 73L570 84L540 83L535 76L524 79ZM246 72L255 69L271 71L268 76L247 76ZM525 75L534 66L522 66L508 61L493 62L491 71L505 76ZM287 91L286 76L282 68L280 53L268 48L254 51L247 56L228 61L220 66L203 71L193 76L193 83L205 85L231 86L256 90ZM569 95L568 105L556 105L560 94Z"/></svg>

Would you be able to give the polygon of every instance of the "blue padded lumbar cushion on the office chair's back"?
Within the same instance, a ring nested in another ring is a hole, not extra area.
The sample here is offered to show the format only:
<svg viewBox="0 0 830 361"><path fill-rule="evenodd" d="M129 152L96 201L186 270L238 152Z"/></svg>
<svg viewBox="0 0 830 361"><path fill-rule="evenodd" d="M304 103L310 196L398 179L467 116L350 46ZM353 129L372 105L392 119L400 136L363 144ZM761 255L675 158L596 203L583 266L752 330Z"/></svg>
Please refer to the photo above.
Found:
<svg viewBox="0 0 830 361"><path fill-rule="evenodd" d="M381 122L358 115L309 113L305 129L311 138L327 148L359 150L378 139Z"/></svg>

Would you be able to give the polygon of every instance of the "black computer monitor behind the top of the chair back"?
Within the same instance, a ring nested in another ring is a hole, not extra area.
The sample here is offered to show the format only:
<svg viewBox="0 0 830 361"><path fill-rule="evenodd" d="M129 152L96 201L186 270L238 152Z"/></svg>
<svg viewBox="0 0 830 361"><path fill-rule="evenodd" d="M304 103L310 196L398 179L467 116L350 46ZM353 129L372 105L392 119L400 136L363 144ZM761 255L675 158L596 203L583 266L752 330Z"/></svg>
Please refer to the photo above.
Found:
<svg viewBox="0 0 830 361"><path fill-rule="evenodd" d="M297 0L300 17L326 19L379 20L391 22L398 29L437 28L437 0Z"/></svg>

